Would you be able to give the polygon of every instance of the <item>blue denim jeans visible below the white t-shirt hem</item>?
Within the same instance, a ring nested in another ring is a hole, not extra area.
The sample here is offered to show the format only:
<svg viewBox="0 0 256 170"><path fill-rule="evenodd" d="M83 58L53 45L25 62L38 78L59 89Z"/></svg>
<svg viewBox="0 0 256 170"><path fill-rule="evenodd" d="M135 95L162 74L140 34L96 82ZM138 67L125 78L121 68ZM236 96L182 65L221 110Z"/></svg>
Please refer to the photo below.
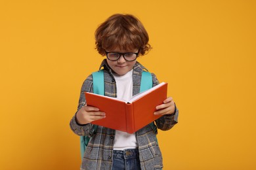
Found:
<svg viewBox="0 0 256 170"><path fill-rule="evenodd" d="M139 150L114 150L112 170L140 170Z"/></svg>

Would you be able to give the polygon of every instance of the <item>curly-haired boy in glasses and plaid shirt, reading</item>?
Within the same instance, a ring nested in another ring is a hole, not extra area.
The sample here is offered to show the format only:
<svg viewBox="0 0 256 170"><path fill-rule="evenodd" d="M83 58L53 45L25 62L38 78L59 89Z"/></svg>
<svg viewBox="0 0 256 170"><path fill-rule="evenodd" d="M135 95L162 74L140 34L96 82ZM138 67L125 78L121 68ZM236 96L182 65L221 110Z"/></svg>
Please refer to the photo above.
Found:
<svg viewBox="0 0 256 170"><path fill-rule="evenodd" d="M141 22L130 14L114 14L95 32L96 49L106 59L104 67L105 95L130 99L139 93L140 78L145 69L137 57L150 50L148 33ZM152 74L153 86L159 82ZM105 118L104 112L86 105L84 92L93 92L93 77L88 76L81 88L79 105L70 127L80 136L91 135L91 122ZM177 124L179 111L172 97L156 107L154 114L162 115L155 121L158 129L168 130ZM161 169L161 151L152 127L145 126L129 134L98 126L85 150L81 169Z"/></svg>

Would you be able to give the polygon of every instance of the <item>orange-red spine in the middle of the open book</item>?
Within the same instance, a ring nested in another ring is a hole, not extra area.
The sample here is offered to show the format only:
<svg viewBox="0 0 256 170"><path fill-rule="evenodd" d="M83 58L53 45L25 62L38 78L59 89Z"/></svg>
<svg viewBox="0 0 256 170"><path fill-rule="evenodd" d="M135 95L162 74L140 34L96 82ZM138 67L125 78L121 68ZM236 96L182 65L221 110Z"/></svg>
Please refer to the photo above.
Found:
<svg viewBox="0 0 256 170"><path fill-rule="evenodd" d="M127 124L127 133L134 133L134 115L133 115L133 104L127 103L125 105L125 115Z"/></svg>

